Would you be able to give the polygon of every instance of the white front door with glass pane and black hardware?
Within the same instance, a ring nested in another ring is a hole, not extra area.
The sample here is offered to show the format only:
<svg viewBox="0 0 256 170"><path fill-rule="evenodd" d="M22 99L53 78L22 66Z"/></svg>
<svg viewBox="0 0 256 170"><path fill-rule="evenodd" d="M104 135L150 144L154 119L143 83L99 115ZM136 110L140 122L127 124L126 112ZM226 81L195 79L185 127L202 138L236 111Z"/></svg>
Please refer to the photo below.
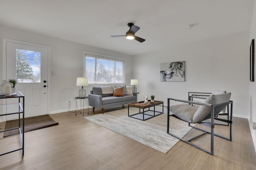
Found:
<svg viewBox="0 0 256 170"><path fill-rule="evenodd" d="M25 117L48 113L47 76L47 47L6 41L6 79L18 80L15 90L25 96Z"/></svg>

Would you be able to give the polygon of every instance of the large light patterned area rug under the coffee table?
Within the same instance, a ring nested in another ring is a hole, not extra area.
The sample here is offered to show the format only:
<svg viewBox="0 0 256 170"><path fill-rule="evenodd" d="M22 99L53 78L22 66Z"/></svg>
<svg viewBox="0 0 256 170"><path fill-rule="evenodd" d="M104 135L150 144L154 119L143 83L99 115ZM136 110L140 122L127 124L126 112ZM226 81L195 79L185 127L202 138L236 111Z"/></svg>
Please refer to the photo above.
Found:
<svg viewBox="0 0 256 170"><path fill-rule="evenodd" d="M156 106L156 110L162 111L162 107ZM138 113L139 109L130 107L129 111L133 114ZM179 141L166 133L167 109L165 107L163 114L146 121L128 117L128 108L84 118L163 153L167 153ZM170 117L170 133L182 138L190 129L192 127L188 127L188 123Z"/></svg>

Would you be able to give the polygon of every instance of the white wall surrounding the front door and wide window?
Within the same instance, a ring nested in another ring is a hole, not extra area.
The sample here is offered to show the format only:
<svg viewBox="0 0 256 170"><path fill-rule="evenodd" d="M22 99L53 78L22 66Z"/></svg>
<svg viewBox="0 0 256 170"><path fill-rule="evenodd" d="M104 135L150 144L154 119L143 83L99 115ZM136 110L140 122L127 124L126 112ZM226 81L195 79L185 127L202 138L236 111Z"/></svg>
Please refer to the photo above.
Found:
<svg viewBox="0 0 256 170"><path fill-rule="evenodd" d="M0 63L3 61L3 38L50 46L50 70L62 74L62 76L51 75L50 84L48 84L51 89L50 113L67 111L68 99L71 99L71 108L75 107L74 97L78 96L78 90L81 88L76 86L76 77L82 76L83 51L126 59L126 82L130 84L132 78L132 57L130 55L0 25ZM0 65L1 82L2 64ZM90 90L92 86L87 86L86 93L90 93ZM85 104L87 105L87 102Z"/></svg>

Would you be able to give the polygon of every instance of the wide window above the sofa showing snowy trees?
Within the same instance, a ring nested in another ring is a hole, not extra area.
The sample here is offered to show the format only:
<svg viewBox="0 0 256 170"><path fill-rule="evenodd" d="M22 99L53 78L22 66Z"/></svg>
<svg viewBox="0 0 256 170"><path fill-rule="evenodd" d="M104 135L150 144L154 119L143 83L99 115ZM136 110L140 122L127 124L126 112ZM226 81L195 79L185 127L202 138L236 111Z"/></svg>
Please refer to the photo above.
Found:
<svg viewBox="0 0 256 170"><path fill-rule="evenodd" d="M124 59L84 52L84 76L89 84L124 83Z"/></svg>

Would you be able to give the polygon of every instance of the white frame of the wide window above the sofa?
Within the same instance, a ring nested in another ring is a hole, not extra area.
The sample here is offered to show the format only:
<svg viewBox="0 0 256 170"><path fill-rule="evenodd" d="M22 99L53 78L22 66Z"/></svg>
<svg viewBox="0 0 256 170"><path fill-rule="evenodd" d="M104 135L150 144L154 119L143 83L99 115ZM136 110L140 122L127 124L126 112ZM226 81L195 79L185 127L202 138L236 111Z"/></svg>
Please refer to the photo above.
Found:
<svg viewBox="0 0 256 170"><path fill-rule="evenodd" d="M115 64L116 64L116 61L123 63L123 82L122 83L90 83L88 82L89 85L125 84L126 59L84 51L83 52L83 77L85 77L86 75L86 57L95 57L96 59L115 61ZM95 71L96 70L97 70L97 66L95 65Z"/></svg>

